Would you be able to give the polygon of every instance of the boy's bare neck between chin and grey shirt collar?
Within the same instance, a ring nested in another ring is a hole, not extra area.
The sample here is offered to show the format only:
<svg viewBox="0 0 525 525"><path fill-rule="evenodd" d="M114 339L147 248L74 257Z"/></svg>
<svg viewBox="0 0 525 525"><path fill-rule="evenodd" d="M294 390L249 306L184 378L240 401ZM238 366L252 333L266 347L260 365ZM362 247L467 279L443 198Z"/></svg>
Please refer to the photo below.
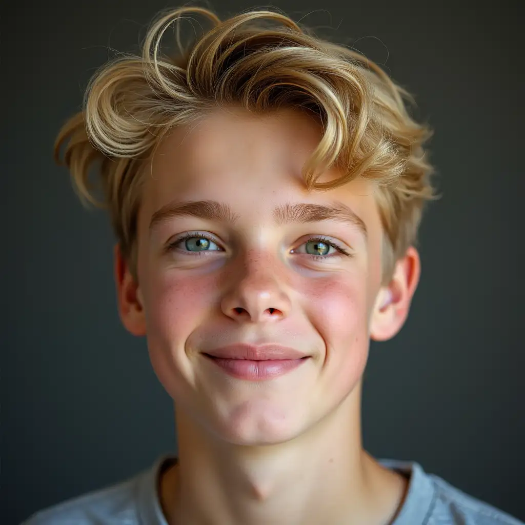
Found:
<svg viewBox="0 0 525 525"><path fill-rule="evenodd" d="M178 462L161 482L168 523L391 522L406 481L362 449L359 407L354 391L297 438L250 447L217 439L177 408Z"/></svg>

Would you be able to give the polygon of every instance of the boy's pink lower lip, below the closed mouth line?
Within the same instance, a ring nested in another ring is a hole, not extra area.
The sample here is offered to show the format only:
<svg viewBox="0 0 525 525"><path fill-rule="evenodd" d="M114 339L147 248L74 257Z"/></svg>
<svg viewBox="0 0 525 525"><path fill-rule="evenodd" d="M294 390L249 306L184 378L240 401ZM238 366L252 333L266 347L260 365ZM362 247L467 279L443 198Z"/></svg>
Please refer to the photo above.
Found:
<svg viewBox="0 0 525 525"><path fill-rule="evenodd" d="M220 366L227 374L237 379L264 381L284 375L304 363L308 358L252 361L249 359L221 359L206 357Z"/></svg>

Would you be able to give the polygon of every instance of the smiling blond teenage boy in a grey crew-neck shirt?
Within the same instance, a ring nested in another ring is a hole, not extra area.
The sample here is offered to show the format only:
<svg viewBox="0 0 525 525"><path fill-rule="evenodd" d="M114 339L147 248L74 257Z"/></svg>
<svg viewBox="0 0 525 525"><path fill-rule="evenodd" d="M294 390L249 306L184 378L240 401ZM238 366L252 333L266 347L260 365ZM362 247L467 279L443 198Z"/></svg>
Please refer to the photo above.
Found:
<svg viewBox="0 0 525 525"><path fill-rule="evenodd" d="M213 28L161 55L194 15ZM263 11L177 9L97 74L57 155L93 202L100 161L120 316L174 400L178 454L27 523L519 523L362 447L369 342L406 320L433 198L405 95Z"/></svg>

